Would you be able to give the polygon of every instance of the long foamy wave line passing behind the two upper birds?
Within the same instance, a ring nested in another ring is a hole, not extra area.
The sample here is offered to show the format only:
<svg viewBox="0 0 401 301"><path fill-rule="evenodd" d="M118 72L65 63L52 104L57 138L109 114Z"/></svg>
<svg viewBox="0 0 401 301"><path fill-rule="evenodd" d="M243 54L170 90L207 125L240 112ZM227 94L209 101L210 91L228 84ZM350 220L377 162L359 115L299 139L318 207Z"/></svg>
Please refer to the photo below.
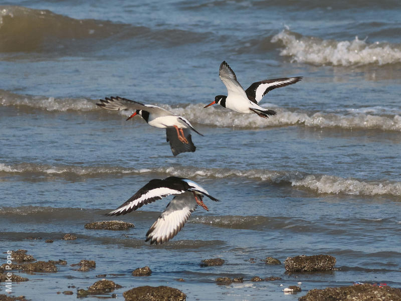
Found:
<svg viewBox="0 0 401 301"><path fill-rule="evenodd" d="M98 100L85 98L54 98L40 96L24 96L0 90L0 104L37 108L45 111L97 111L103 114L116 115L116 112L103 110L95 105ZM256 114L249 114L244 118L239 114L220 107L203 109L205 104L182 104L180 107L160 105L175 114L182 115L192 123L213 127L237 128L268 128L275 126L307 126L319 128L342 129L378 129L383 131L401 131L400 111L383 107L366 107L348 109L345 114L326 112L307 113L302 111L289 111L270 105L277 111L277 115L269 119L260 118ZM208 114L205 114L208 110ZM30 110L29 110L30 111ZM124 117L132 114L130 111L120 111ZM380 115L377 115L380 114Z"/></svg>

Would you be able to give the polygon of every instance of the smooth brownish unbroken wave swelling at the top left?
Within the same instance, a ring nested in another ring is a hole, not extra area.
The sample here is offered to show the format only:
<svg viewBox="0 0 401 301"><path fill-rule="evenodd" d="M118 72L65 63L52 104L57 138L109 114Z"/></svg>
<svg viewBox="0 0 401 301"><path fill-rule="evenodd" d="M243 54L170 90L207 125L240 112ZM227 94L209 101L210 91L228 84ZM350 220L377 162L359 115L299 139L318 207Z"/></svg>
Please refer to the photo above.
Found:
<svg viewBox="0 0 401 301"><path fill-rule="evenodd" d="M142 38L152 43L167 43L171 46L198 43L213 33L114 23L93 19L73 19L49 10L36 10L20 6L0 6L0 52L60 52L62 49L80 51L108 47L113 44L95 46L94 41L113 39L114 42ZM81 41L81 42L80 42ZM84 42L83 44L82 41ZM85 42L86 41L86 42ZM137 44L137 43L136 43ZM121 46L121 45L120 45ZM132 48L132 43L129 46ZM143 47L140 44L140 47Z"/></svg>

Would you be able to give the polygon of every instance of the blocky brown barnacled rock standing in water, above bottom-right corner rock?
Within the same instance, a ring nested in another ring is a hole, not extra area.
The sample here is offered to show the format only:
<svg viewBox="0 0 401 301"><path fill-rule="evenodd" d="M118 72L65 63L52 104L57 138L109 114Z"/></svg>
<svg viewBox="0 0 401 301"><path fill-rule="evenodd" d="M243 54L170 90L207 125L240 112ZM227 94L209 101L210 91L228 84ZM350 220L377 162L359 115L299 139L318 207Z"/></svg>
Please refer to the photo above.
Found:
<svg viewBox="0 0 401 301"><path fill-rule="evenodd" d="M331 270L336 260L330 255L287 257L284 267L289 272L312 272Z"/></svg>

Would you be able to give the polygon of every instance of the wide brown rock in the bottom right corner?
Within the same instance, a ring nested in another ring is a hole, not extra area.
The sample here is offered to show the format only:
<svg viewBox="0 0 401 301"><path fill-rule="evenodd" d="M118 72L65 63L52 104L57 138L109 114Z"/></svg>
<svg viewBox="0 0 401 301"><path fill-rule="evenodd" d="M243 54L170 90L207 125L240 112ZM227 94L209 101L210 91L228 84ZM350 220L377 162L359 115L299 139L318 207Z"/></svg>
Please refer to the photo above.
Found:
<svg viewBox="0 0 401 301"><path fill-rule="evenodd" d="M401 289L390 286L360 284L312 289L299 301L401 301Z"/></svg>

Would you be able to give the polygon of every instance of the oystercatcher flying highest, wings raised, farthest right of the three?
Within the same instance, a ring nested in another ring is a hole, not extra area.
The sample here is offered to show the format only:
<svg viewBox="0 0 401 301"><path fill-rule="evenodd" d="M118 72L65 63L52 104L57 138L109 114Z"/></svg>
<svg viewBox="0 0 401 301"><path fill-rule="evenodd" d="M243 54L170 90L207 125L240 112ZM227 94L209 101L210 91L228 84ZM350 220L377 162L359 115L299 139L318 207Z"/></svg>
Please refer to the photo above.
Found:
<svg viewBox="0 0 401 301"><path fill-rule="evenodd" d="M295 84L302 79L302 76L266 79L255 82L244 90L237 81L237 76L233 69L230 68L226 61L223 61L220 65L219 76L227 87L227 96L217 95L215 100L206 105L205 108L218 103L233 111L245 114L256 113L263 118L268 118L269 115L276 115L276 111L259 106L258 103L263 96L273 89Z"/></svg>

